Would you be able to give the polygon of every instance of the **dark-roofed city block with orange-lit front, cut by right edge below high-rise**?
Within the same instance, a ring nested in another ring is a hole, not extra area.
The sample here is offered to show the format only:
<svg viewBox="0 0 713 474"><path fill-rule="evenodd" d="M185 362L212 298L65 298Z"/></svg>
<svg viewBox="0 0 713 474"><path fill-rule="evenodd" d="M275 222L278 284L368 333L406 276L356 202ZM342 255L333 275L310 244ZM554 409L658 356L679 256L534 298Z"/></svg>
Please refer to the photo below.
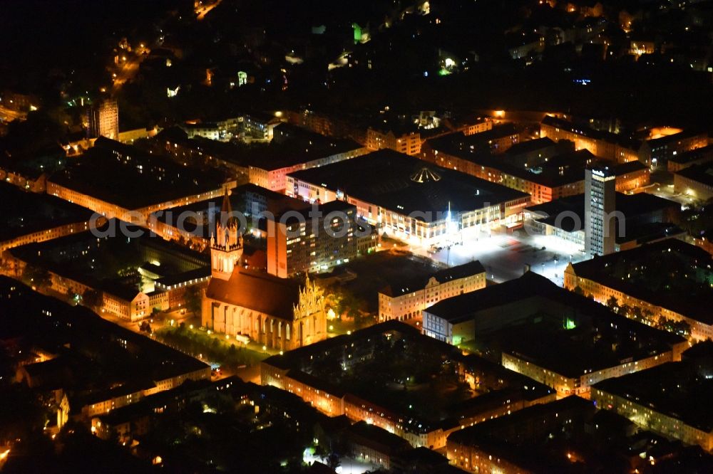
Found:
<svg viewBox="0 0 713 474"><path fill-rule="evenodd" d="M685 323L687 329L678 332L707 339L713 338L712 266L713 258L702 248L667 239L570 263L564 285L602 304L616 302L620 312L650 324Z"/></svg>

